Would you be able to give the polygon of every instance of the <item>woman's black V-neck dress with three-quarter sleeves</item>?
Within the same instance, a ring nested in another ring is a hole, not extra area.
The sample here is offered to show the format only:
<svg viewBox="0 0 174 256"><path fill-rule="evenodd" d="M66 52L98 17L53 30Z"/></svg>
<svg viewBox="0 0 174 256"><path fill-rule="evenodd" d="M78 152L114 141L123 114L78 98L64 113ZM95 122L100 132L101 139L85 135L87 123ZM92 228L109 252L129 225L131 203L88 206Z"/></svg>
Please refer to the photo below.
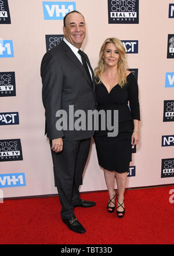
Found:
<svg viewBox="0 0 174 256"><path fill-rule="evenodd" d="M139 95L137 81L133 73L127 76L124 87L116 84L108 93L107 88L101 82L96 84L97 110L118 110L118 135L108 137L110 132L102 130L99 119L99 130L93 136L96 145L99 165L107 170L115 170L123 173L129 171L129 163L132 161L131 136L133 132L133 119L140 120ZM128 105L129 103L129 105ZM114 116L112 116L113 122Z"/></svg>

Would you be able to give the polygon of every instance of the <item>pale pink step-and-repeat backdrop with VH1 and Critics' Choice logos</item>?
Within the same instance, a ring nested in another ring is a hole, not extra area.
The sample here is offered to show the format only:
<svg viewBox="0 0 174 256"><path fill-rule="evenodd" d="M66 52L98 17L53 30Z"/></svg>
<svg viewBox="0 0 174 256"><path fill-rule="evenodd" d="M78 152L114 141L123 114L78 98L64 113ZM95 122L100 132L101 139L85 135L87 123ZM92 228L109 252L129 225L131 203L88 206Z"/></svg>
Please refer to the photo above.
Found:
<svg viewBox="0 0 174 256"><path fill-rule="evenodd" d="M82 48L93 69L104 40L117 37L139 84L140 142L126 187L173 184L174 1L0 0L0 197L57 194L40 65L63 40L63 17L72 10L85 17ZM106 189L92 140L80 191Z"/></svg>

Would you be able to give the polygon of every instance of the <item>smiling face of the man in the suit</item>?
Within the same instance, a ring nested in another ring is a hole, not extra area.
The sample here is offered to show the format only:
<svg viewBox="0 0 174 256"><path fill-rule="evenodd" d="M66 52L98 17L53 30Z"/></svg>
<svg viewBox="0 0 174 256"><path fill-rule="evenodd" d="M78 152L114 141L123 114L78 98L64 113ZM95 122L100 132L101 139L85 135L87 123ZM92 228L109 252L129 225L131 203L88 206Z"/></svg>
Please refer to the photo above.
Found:
<svg viewBox="0 0 174 256"><path fill-rule="evenodd" d="M63 33L68 42L81 48L86 35L84 17L79 13L70 13L66 18L66 27L63 26Z"/></svg>

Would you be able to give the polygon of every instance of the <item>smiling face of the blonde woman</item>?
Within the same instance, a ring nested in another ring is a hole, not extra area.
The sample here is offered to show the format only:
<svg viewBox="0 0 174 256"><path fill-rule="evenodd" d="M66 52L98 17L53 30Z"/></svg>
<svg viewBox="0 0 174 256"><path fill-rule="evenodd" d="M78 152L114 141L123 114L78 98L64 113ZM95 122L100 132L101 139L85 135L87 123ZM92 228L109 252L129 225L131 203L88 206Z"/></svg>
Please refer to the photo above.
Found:
<svg viewBox="0 0 174 256"><path fill-rule="evenodd" d="M115 44L108 42L104 48L103 59L107 66L113 67L118 65L119 52Z"/></svg>

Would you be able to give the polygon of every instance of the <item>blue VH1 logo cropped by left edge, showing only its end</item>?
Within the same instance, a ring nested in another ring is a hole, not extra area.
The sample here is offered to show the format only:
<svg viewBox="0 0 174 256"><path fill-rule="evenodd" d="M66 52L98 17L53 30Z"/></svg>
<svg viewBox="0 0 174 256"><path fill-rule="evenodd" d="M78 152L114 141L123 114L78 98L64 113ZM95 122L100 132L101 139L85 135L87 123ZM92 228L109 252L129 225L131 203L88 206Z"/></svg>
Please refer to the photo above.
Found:
<svg viewBox="0 0 174 256"><path fill-rule="evenodd" d="M0 58L13 58L13 42L12 40L2 40L0 38Z"/></svg>

